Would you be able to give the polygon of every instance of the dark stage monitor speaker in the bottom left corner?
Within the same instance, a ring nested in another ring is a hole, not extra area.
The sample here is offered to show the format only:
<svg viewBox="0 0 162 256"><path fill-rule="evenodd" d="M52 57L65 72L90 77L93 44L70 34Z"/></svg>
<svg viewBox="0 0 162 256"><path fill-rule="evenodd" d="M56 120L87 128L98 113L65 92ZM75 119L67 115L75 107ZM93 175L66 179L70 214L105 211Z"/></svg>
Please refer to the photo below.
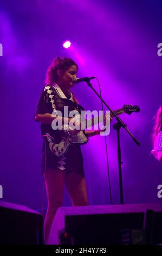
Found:
<svg viewBox="0 0 162 256"><path fill-rule="evenodd" d="M0 244L40 244L42 215L23 205L0 201Z"/></svg>

